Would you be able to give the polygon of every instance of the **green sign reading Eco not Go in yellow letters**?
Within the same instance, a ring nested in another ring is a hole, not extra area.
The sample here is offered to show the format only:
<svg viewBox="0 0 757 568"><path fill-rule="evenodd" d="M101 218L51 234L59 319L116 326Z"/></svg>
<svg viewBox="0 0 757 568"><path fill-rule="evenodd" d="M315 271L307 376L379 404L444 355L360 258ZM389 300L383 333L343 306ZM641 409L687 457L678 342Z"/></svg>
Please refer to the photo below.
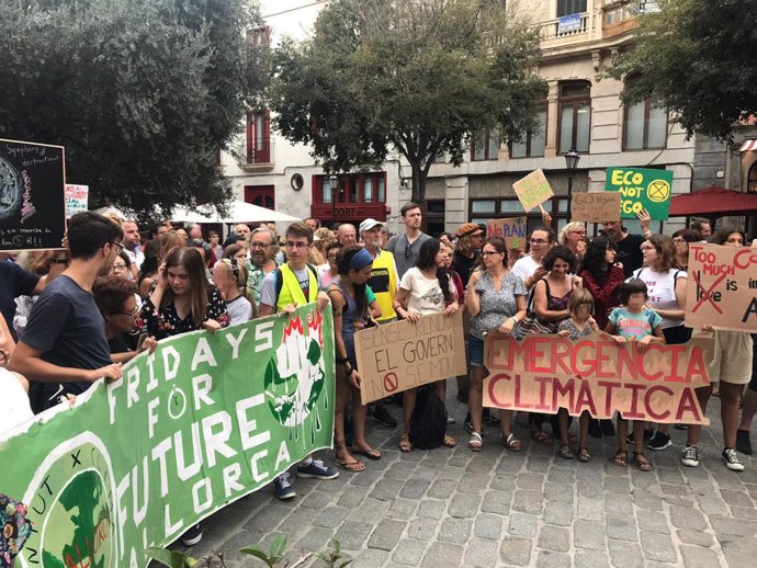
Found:
<svg viewBox="0 0 757 568"><path fill-rule="evenodd" d="M620 216L623 219L635 219L639 212L646 209L652 219L666 220L673 196L673 172L645 168L608 168L605 191L621 194Z"/></svg>

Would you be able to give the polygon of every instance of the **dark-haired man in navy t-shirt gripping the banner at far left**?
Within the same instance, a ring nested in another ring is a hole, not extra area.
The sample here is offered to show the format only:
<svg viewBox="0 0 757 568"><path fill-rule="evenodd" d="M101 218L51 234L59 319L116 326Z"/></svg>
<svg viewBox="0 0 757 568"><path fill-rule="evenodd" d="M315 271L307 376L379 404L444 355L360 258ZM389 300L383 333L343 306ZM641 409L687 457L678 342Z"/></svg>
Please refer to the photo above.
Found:
<svg viewBox="0 0 757 568"><path fill-rule="evenodd" d="M12 371L37 383L36 412L55 404L49 395L58 383L64 393L77 395L100 377L122 376L121 365L111 360L92 284L123 249L123 237L121 227L91 212L78 213L68 224L71 262L39 295L11 360Z"/></svg>

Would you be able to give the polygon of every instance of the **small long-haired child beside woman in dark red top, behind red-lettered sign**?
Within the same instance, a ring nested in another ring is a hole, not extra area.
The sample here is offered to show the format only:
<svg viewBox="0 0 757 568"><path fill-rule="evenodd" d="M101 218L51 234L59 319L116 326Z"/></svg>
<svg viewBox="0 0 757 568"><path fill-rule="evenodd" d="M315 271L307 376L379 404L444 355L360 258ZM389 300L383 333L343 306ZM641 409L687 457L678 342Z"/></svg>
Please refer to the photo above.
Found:
<svg viewBox="0 0 757 568"><path fill-rule="evenodd" d="M557 328L557 334L561 338L569 338L570 341L577 341L585 336L590 336L599 329L592 317L594 297L588 289L578 288L573 293L568 300L568 310L570 311L570 317L561 321ZM578 461L584 464L591 459L591 454L589 454L588 448L589 419L589 412L586 410L581 412L578 419L580 425ZM573 453L569 446L568 413L566 409L560 409L557 412L557 422L560 424L561 443L558 455L565 459L572 459Z"/></svg>

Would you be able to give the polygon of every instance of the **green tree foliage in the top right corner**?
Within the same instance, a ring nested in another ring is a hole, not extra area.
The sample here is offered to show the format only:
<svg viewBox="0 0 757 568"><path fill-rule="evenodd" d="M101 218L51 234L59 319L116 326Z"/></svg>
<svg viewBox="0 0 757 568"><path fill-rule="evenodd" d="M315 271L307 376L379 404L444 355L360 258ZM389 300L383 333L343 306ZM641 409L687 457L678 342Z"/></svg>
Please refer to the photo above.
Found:
<svg viewBox="0 0 757 568"><path fill-rule="evenodd" d="M634 75L622 99L652 96L689 135L728 139L739 120L757 115L757 2L662 0L640 16L633 48L607 73Z"/></svg>

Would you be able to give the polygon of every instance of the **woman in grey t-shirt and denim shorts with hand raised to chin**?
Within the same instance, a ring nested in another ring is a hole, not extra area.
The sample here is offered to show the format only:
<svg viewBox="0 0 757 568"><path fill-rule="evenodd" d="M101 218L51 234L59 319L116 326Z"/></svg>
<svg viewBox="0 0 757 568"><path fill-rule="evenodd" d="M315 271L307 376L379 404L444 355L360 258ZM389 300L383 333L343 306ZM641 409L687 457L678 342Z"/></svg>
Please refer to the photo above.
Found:
<svg viewBox="0 0 757 568"><path fill-rule="evenodd" d="M467 446L479 452L483 446L484 334L496 330L511 336L526 317L523 281L507 270L507 245L500 237L490 238L482 250L484 271L474 272L467 285L465 307L471 313L471 394L468 408L473 432ZM519 452L522 444L511 432L512 410L500 410L501 436L508 450Z"/></svg>

